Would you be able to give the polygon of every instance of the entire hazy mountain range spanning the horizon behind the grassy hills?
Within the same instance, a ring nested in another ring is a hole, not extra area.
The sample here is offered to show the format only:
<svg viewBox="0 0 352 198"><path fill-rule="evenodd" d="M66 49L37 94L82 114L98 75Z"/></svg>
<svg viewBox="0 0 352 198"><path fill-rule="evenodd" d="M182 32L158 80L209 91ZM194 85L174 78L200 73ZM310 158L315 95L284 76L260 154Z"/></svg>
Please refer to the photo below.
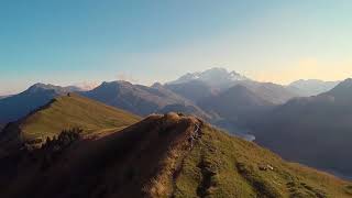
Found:
<svg viewBox="0 0 352 198"><path fill-rule="evenodd" d="M352 140L351 79L336 84L299 80L280 86L222 68L187 74L151 87L110 81L84 91L36 84L0 99L0 130L54 98L76 92L142 117L169 111L195 114L232 134L254 134L257 143L286 158L349 176L352 164L345 158L350 158L346 151Z"/></svg>

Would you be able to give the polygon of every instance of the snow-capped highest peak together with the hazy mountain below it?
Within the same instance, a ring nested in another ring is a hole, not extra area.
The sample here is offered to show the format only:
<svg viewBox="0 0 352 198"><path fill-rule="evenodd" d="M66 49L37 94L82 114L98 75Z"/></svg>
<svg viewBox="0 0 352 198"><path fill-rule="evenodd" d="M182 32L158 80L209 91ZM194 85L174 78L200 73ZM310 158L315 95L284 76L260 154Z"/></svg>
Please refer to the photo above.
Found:
<svg viewBox="0 0 352 198"><path fill-rule="evenodd" d="M188 74L164 87L211 114L211 123L241 135L248 131L250 118L299 96L284 86L254 81L221 68Z"/></svg>

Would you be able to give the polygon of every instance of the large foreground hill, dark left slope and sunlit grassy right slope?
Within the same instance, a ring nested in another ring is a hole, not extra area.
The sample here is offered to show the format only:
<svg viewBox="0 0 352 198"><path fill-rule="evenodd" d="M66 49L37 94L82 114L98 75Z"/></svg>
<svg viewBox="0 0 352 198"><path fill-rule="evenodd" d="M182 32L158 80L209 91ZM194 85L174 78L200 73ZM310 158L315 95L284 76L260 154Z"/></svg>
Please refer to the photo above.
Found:
<svg viewBox="0 0 352 198"><path fill-rule="evenodd" d="M351 183L176 113L0 158L0 186L2 197L36 198L352 197Z"/></svg>

